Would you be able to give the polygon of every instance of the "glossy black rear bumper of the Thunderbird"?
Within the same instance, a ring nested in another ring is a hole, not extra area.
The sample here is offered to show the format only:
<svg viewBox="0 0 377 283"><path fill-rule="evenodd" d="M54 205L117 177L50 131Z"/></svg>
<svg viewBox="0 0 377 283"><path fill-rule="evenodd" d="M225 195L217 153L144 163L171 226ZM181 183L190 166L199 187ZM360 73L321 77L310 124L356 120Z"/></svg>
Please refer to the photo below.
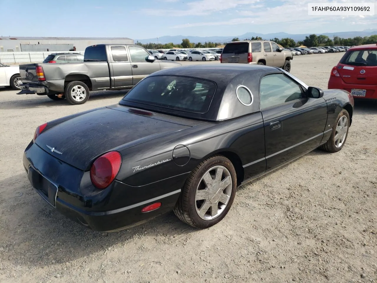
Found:
<svg viewBox="0 0 377 283"><path fill-rule="evenodd" d="M139 187L115 180L98 190L91 185L89 172L58 160L33 142L25 149L23 166L33 188L49 205L94 231L122 230L172 211L186 178L180 175ZM158 209L141 212L156 202L162 203Z"/></svg>

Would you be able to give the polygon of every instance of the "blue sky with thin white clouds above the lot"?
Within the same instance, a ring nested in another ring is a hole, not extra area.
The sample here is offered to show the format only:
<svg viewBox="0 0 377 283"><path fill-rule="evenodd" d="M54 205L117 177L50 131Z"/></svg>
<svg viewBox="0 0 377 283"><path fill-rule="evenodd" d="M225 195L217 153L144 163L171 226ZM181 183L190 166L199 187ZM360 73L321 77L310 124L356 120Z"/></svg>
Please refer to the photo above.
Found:
<svg viewBox="0 0 377 283"><path fill-rule="evenodd" d="M15 5L15 2L17 4ZM155 38L377 28L374 16L309 16L318 0L0 0L0 36ZM376 0L320 0L372 2Z"/></svg>

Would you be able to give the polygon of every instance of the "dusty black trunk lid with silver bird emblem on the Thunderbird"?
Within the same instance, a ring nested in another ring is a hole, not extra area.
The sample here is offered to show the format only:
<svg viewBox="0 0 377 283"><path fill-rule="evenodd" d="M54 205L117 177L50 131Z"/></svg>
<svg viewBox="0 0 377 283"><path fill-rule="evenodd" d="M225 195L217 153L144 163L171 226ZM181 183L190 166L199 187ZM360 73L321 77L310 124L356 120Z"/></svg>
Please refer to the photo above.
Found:
<svg viewBox="0 0 377 283"><path fill-rule="evenodd" d="M182 125L187 119L169 121L169 117L158 113L146 117L128 109L127 106L104 107L79 115L47 128L35 143L61 161L87 171L92 161L107 151L138 145L195 124L189 119L192 125Z"/></svg>

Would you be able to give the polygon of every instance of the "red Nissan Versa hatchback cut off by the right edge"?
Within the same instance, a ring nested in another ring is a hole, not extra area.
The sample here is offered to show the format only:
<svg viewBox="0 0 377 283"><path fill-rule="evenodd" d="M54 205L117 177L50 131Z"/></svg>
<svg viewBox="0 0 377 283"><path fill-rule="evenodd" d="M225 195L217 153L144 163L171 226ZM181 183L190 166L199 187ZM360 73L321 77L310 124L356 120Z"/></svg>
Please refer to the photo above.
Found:
<svg viewBox="0 0 377 283"><path fill-rule="evenodd" d="M348 49L331 70L329 89L344 89L355 98L377 99L377 44Z"/></svg>

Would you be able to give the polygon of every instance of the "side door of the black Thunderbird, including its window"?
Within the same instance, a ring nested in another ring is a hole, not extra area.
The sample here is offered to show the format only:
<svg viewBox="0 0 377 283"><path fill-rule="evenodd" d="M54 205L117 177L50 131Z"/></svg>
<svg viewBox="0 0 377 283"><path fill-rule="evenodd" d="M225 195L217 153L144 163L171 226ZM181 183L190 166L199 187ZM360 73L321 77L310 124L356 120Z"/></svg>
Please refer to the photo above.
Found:
<svg viewBox="0 0 377 283"><path fill-rule="evenodd" d="M303 85L283 72L260 82L267 170L319 146L327 121L327 104L308 98Z"/></svg>

